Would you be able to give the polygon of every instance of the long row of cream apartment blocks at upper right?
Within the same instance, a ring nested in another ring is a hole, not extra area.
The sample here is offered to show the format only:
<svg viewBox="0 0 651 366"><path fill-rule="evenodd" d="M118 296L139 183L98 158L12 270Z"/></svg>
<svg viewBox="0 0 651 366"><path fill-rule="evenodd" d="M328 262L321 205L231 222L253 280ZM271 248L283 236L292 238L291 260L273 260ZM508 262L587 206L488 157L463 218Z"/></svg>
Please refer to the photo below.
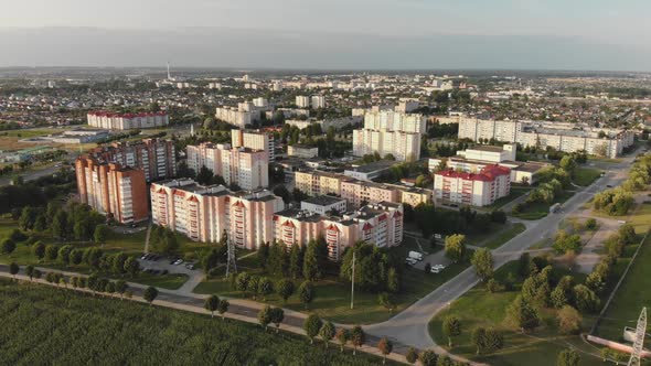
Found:
<svg viewBox="0 0 651 366"><path fill-rule="evenodd" d="M594 128L577 123L512 121L478 118L459 119L459 139L516 142L523 147L552 147L558 151L585 150L589 154L616 158L633 144L634 132Z"/></svg>

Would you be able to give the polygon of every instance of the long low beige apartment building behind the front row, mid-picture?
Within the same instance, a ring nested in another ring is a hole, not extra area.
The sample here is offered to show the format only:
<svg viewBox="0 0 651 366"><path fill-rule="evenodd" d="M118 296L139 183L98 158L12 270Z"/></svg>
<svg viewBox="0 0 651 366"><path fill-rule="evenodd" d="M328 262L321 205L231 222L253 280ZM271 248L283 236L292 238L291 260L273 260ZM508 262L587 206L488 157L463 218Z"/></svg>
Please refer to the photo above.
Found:
<svg viewBox="0 0 651 366"><path fill-rule="evenodd" d="M295 172L295 187L310 196L340 196L348 202L349 209L380 202L412 206L431 202L431 191L428 190L360 181L343 174L321 171Z"/></svg>

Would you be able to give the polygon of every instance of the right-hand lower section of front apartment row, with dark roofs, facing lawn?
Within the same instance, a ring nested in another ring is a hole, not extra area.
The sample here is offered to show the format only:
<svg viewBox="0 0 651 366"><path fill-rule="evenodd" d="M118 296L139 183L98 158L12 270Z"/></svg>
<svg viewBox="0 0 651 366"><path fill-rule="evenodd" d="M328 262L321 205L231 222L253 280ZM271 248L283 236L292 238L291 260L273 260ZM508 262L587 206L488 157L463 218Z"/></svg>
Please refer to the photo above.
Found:
<svg viewBox="0 0 651 366"><path fill-rule="evenodd" d="M363 240L380 248L403 241L403 206L382 202L341 216L324 216L290 208L274 215L276 240L286 246L306 246L320 237L328 244L328 257L341 260L346 247Z"/></svg>

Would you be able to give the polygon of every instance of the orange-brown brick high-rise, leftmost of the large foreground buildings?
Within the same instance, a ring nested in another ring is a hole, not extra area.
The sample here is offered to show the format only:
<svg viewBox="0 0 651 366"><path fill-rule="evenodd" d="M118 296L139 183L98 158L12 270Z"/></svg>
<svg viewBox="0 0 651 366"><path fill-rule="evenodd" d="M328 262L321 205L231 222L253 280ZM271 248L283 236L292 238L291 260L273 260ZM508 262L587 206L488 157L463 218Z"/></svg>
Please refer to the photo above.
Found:
<svg viewBox="0 0 651 366"><path fill-rule="evenodd" d="M121 224L149 218L147 182L141 169L81 157L75 161L79 201Z"/></svg>

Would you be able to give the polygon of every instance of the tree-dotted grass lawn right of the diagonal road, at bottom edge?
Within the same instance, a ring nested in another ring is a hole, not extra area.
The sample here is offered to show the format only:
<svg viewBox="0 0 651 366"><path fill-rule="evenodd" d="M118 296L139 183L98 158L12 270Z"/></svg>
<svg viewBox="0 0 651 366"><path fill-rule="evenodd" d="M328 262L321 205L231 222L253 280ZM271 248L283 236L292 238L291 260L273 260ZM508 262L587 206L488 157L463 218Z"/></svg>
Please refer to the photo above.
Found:
<svg viewBox="0 0 651 366"><path fill-rule="evenodd" d="M509 262L495 272L495 277L503 280L509 272L515 274L516 268L516 261ZM517 278L517 276L515 277ZM577 281L583 279L577 279ZM506 308L520 292L521 281L522 279L519 279L514 291L497 293L489 293L482 284L478 284L429 322L429 334L437 344L447 348L448 338L441 331L442 321L446 316L456 315L461 322L462 331L461 335L453 340L453 347L450 351L453 354L491 365L555 365L556 355L566 349L568 343L587 352L594 349L583 344L578 336L558 335L555 311L553 310L541 311L543 325L535 332L526 335L514 332L506 324ZM501 331L504 335L504 348L490 356L477 356L476 348L470 341L470 334L477 326L494 327ZM598 358L581 354L580 365L595 365L597 362L599 362Z"/></svg>

